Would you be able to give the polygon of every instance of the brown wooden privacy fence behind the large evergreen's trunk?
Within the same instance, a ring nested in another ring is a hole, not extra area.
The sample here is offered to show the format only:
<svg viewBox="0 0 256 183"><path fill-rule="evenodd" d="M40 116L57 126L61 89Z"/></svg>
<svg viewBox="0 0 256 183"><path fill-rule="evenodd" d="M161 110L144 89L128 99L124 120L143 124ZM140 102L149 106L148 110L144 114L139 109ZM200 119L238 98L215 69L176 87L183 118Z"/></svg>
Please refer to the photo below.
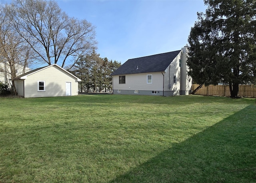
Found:
<svg viewBox="0 0 256 183"><path fill-rule="evenodd" d="M192 91L195 90L199 85L193 84ZM218 96L230 96L228 85L210 85L203 86L196 93L196 95L218 95ZM239 93L240 97L256 97L256 87L250 85L240 85Z"/></svg>

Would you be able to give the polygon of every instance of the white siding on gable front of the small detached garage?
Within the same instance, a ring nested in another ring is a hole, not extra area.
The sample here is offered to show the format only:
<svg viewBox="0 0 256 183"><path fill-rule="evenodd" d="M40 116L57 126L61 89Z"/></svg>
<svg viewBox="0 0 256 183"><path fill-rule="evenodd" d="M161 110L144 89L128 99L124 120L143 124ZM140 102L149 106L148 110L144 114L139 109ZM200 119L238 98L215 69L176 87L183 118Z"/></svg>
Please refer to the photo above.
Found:
<svg viewBox="0 0 256 183"><path fill-rule="evenodd" d="M45 92L38 92L38 81L45 81ZM71 95L78 95L76 78L57 66L48 67L27 76L24 80L24 97L66 96L66 82L71 82Z"/></svg>

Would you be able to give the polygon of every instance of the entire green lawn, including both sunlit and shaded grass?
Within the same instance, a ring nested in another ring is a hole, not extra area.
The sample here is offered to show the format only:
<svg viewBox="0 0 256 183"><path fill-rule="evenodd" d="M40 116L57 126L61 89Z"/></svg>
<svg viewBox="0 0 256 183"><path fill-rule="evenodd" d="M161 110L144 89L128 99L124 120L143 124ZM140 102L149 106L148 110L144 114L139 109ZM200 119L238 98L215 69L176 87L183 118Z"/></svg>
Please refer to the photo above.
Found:
<svg viewBox="0 0 256 183"><path fill-rule="evenodd" d="M256 182L255 99L0 98L0 182Z"/></svg>

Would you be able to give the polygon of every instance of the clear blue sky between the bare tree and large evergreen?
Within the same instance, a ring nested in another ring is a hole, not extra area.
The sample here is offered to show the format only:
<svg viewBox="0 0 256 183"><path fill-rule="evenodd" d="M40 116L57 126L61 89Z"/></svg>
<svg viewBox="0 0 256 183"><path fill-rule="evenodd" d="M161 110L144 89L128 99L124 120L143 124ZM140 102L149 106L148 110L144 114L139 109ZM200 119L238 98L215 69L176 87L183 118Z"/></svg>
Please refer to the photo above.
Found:
<svg viewBox="0 0 256 183"><path fill-rule="evenodd" d="M70 17L96 26L100 57L122 64L186 46L203 0L57 0Z"/></svg>

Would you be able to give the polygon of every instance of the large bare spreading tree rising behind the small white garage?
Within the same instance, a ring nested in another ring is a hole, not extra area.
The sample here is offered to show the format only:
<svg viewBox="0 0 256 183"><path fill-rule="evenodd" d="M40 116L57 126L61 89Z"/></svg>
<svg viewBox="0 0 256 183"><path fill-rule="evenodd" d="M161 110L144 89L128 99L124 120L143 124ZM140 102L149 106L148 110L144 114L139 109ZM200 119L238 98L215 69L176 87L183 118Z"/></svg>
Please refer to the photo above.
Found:
<svg viewBox="0 0 256 183"><path fill-rule="evenodd" d="M70 18L55 1L15 0L8 14L14 29L48 65L72 67L96 48L95 27Z"/></svg>

